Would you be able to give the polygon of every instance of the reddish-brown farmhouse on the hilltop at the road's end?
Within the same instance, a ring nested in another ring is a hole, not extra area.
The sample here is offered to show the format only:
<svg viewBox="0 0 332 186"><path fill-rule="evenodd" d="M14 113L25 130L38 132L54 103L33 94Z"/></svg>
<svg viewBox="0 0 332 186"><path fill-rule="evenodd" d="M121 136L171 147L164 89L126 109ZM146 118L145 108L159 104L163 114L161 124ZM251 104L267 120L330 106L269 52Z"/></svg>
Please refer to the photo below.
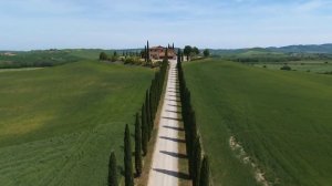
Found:
<svg viewBox="0 0 332 186"><path fill-rule="evenodd" d="M149 49L149 59L152 60L164 60L166 58L166 49L168 60L176 60L175 49L173 46L163 48L160 45L153 46Z"/></svg>

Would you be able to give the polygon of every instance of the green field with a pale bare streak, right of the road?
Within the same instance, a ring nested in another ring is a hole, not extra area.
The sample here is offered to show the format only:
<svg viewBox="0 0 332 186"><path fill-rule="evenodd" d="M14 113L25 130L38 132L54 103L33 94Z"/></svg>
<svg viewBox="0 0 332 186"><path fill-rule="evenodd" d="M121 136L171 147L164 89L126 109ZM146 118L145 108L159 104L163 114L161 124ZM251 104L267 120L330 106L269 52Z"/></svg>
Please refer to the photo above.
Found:
<svg viewBox="0 0 332 186"><path fill-rule="evenodd" d="M331 75L220 60L184 69L215 185L332 184Z"/></svg>

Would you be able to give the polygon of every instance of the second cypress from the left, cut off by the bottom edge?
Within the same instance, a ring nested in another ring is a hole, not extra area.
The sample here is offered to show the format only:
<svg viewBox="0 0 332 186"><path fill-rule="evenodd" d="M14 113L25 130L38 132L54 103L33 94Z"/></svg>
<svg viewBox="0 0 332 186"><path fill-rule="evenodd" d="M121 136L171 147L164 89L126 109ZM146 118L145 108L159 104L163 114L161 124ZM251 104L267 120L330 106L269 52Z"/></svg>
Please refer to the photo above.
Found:
<svg viewBox="0 0 332 186"><path fill-rule="evenodd" d="M125 137L124 137L124 166L125 166L125 186L134 186L131 131L128 124L126 124Z"/></svg>

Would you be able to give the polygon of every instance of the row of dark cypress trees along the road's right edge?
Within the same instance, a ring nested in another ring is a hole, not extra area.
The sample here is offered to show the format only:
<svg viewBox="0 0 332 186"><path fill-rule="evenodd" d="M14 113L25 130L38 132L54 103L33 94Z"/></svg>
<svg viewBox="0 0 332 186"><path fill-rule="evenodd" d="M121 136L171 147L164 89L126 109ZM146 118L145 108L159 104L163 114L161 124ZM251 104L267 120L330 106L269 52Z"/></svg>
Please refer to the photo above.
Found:
<svg viewBox="0 0 332 186"><path fill-rule="evenodd" d="M178 50L178 55L181 51ZM179 79L179 90L181 99L181 113L185 126L186 147L189 158L189 175L193 179L193 186L209 186L209 162L208 156L203 153L201 140L199 136L195 111L191 105L190 91L188 90L181 66L181 58L177 60L177 70Z"/></svg>

